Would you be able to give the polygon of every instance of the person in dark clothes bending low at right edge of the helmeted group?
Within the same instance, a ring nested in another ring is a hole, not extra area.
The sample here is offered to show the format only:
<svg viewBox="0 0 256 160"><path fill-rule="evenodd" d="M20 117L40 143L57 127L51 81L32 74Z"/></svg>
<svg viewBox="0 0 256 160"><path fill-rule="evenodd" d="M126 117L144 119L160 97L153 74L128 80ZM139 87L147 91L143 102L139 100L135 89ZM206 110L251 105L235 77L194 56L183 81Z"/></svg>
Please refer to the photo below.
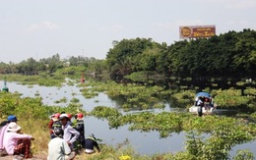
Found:
<svg viewBox="0 0 256 160"><path fill-rule="evenodd" d="M86 142L85 152L87 154L95 153L95 147L97 152L100 152L100 148L96 142L96 137L93 133L86 138L85 142Z"/></svg>

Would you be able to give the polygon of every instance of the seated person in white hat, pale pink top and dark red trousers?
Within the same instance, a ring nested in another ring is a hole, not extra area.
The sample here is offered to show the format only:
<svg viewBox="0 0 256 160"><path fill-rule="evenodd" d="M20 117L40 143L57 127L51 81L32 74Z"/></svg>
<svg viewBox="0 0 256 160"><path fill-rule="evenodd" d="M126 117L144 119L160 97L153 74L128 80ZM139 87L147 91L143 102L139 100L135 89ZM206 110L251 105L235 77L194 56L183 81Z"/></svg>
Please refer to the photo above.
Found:
<svg viewBox="0 0 256 160"><path fill-rule="evenodd" d="M9 155L23 155L24 158L32 158L31 139L32 135L22 134L21 127L15 122L8 125L4 137L4 147Z"/></svg>

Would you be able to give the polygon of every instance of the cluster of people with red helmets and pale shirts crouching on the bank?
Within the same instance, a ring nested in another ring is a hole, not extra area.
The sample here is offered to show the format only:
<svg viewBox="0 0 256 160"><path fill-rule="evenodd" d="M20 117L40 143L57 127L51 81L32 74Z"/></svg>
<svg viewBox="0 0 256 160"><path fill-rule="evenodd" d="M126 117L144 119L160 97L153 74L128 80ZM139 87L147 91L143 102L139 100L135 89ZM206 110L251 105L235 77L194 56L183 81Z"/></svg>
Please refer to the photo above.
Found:
<svg viewBox="0 0 256 160"><path fill-rule="evenodd" d="M66 113L52 115L48 125L51 140L48 143L48 160L73 159L82 149L88 154L94 153L94 148L100 152L94 134L85 138L85 125L83 113L72 116Z"/></svg>

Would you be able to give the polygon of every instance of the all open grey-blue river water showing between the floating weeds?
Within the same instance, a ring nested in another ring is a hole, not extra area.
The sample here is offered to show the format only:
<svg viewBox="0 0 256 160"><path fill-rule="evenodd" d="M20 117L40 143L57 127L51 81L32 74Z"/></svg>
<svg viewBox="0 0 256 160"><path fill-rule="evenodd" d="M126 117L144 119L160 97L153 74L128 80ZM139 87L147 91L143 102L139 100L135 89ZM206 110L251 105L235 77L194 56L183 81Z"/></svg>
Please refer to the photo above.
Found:
<svg viewBox="0 0 256 160"><path fill-rule="evenodd" d="M0 84L3 81L0 80ZM22 85L18 82L8 82L10 92L22 93L22 97L35 97L39 94L42 97L42 102L49 106L67 106L72 98L80 100L83 104L83 109L90 112L96 106L107 106L120 108L118 104L110 100L106 94L99 93L98 96L87 99L80 92L77 86L70 86L64 84L62 87L56 86L39 86L39 85ZM54 101L66 98L67 103L55 103ZM168 104L165 105L164 111L171 111L172 108ZM151 112L160 112L159 109L151 109ZM15 114L15 113L14 113ZM123 126L118 129L109 129L107 121L96 119L95 117L87 117L85 119L86 135L95 133L97 138L101 138L102 143L106 144L120 144L124 141L129 141L129 144L140 154L155 154L164 152L177 152L184 150L186 133L171 133L166 138L160 138L160 133L150 132L143 133L138 131L128 131L129 126ZM244 144L236 145L229 152L230 156L234 156L238 149L250 149L256 156L256 140Z"/></svg>

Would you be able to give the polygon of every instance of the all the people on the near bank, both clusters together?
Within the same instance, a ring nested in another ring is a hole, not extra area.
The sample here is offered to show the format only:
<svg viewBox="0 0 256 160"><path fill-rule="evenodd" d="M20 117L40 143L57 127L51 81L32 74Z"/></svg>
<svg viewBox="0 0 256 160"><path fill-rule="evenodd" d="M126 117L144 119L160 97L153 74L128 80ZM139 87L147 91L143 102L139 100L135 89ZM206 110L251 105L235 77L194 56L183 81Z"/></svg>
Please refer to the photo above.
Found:
<svg viewBox="0 0 256 160"><path fill-rule="evenodd" d="M49 123L50 141L48 143L48 160L74 159L77 151L85 150L92 154L95 147L100 152L94 134L85 138L83 113L75 115L71 122L69 114L54 114ZM32 135L21 133L18 119L10 115L6 121L0 124L0 156L14 155L22 158L32 158L31 140Z"/></svg>

